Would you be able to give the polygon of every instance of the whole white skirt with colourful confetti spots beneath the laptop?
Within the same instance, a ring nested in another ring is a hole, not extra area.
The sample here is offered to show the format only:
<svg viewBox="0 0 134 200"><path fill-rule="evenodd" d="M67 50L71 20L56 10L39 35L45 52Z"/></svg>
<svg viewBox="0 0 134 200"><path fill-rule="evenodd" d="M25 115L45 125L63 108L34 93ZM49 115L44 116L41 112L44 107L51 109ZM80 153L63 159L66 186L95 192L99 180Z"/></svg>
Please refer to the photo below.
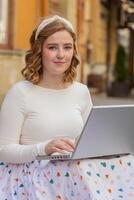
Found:
<svg viewBox="0 0 134 200"><path fill-rule="evenodd" d="M0 200L134 200L134 157L0 162Z"/></svg>

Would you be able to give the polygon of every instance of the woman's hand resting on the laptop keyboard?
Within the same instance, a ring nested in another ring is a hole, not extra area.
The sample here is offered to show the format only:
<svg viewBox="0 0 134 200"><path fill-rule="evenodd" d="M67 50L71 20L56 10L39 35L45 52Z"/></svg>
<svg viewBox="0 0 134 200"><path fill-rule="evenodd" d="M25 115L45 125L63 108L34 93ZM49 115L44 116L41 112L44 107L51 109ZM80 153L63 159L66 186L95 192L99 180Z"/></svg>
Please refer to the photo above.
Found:
<svg viewBox="0 0 134 200"><path fill-rule="evenodd" d="M47 155L52 153L65 153L65 151L73 152L75 148L75 144L72 139L63 137L63 138L56 138L51 140L46 147L45 152Z"/></svg>

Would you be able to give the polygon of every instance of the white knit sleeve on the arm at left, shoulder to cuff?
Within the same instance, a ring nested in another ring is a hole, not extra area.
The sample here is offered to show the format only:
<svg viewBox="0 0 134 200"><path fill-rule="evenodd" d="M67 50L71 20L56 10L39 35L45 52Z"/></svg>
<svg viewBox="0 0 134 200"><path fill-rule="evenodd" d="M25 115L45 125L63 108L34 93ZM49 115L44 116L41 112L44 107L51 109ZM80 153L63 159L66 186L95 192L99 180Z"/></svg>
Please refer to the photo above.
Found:
<svg viewBox="0 0 134 200"><path fill-rule="evenodd" d="M0 110L0 161L26 163L44 154L47 144L21 145L21 129L25 119L25 97L18 85L7 93Z"/></svg>

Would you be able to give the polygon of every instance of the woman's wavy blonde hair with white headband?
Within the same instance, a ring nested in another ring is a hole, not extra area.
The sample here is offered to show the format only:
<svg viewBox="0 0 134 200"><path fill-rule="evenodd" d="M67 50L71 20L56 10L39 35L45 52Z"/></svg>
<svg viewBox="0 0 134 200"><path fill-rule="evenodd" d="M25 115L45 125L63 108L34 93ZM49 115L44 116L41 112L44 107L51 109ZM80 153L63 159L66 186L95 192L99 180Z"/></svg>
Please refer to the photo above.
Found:
<svg viewBox="0 0 134 200"><path fill-rule="evenodd" d="M39 83L43 75L42 45L49 36L60 30L68 31L74 41L73 58L70 67L64 72L63 82L72 83L76 78L76 68L80 63L77 53L76 33L68 20L56 15L43 19L32 32L30 37L30 49L26 52L25 56L26 65L21 70L21 73L26 80L33 84Z"/></svg>

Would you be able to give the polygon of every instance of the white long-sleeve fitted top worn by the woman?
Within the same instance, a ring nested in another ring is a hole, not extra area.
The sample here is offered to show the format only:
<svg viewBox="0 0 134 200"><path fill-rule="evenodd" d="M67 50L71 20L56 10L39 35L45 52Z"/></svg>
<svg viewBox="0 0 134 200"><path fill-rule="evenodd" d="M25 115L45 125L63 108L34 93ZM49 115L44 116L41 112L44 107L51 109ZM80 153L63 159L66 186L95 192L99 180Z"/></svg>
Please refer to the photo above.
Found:
<svg viewBox="0 0 134 200"><path fill-rule="evenodd" d="M7 92L0 111L0 161L26 163L45 154L55 137L76 138L91 110L87 86L47 89L19 81Z"/></svg>

